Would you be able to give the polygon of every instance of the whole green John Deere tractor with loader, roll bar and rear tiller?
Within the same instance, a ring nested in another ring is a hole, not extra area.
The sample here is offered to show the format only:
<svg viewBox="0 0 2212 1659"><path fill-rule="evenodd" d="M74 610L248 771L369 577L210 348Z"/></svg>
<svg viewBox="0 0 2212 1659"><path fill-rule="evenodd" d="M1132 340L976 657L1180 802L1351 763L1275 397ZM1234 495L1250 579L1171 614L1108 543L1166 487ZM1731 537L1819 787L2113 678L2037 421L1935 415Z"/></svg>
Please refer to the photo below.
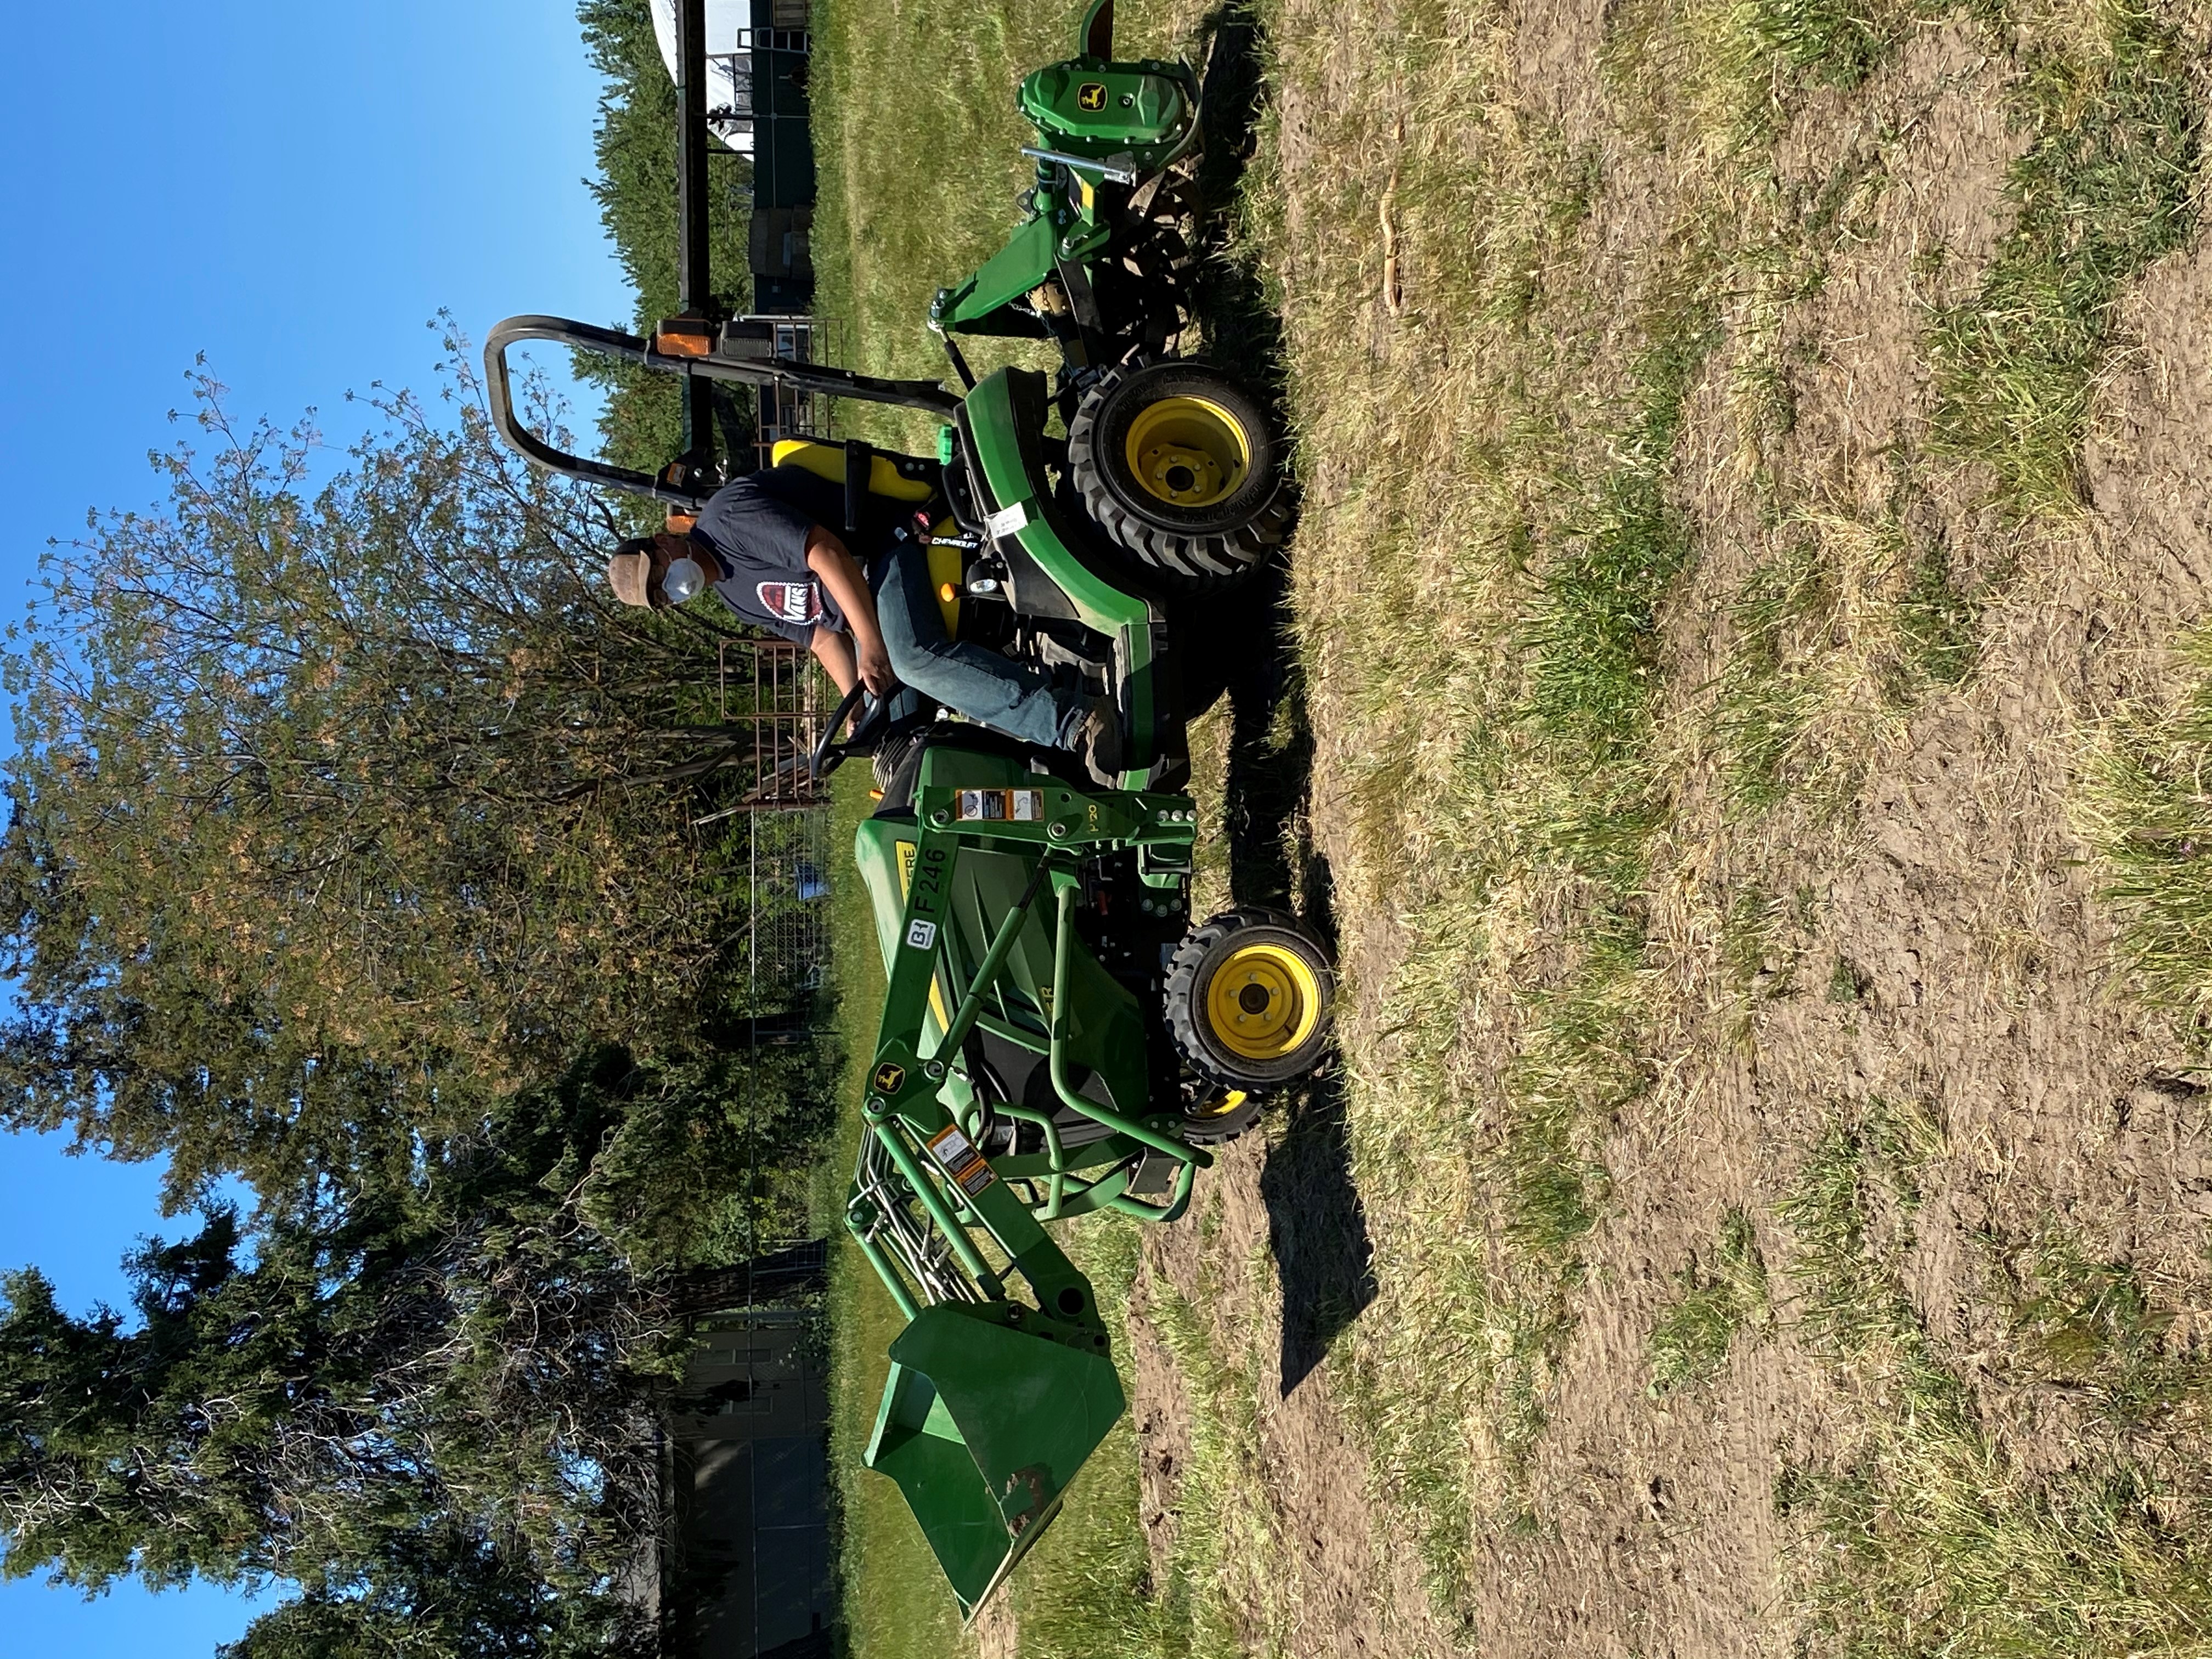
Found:
<svg viewBox="0 0 2212 1659"><path fill-rule="evenodd" d="M697 13L699 0L679 9L686 312L653 338L500 323L484 352L495 429L681 524L728 471L719 389L931 411L931 456L794 440L772 460L843 480L847 533L896 522L922 538L951 633L1082 675L1121 712L1110 781L911 692L854 692L812 757L821 776L867 754L883 785L854 847L887 993L847 1225L907 1327L865 1460L898 1482L973 1613L1124 1409L1093 1287L1048 1225L1177 1219L1208 1148L1327 1051L1332 967L1305 927L1252 909L1190 918L1183 726L1217 688L1219 595L1281 540L1281 438L1234 378L1166 354L1188 307L1179 219L1199 82L1181 64L1115 62L1113 0L1084 15L1082 55L1022 84L1042 139L1024 150L1029 219L931 307L960 394L796 363L770 330L712 314ZM962 334L1048 338L1060 367L978 380ZM507 352L531 338L677 376L686 451L637 473L529 431Z"/></svg>

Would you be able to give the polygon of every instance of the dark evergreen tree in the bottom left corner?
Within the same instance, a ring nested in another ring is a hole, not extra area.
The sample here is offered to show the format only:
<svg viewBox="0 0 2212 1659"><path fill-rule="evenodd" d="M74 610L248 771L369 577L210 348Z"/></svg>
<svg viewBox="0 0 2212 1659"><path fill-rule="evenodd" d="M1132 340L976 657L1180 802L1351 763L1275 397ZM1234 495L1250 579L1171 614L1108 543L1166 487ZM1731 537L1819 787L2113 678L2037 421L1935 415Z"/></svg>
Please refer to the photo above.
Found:
<svg viewBox="0 0 2212 1659"><path fill-rule="evenodd" d="M265 1197L250 1263L217 1208L128 1261L135 1321L9 1276L0 1571L296 1584L246 1659L639 1641L672 1287L584 1203L637 1086L604 1051L398 1177Z"/></svg>

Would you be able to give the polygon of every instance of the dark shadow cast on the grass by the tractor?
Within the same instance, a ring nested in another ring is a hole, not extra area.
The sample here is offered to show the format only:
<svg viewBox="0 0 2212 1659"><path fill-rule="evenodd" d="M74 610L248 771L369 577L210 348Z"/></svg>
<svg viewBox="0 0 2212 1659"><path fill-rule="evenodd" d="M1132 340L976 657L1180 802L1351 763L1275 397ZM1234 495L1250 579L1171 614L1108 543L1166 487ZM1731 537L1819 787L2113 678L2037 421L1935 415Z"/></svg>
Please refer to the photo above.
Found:
<svg viewBox="0 0 2212 1659"><path fill-rule="evenodd" d="M1259 31L1239 7L1201 24L1206 53L1206 161L1199 173L1223 223L1237 199L1261 113ZM1219 232L1201 248L1199 316L1212 352L1283 409L1283 336L1259 274L1223 248ZM1292 650L1290 577L1272 564L1250 588L1223 602L1199 630L1230 706L1228 779L1221 799L1230 854L1230 894L1239 907L1287 909L1334 949L1336 914L1329 863L1307 818L1314 732L1305 679ZM1270 1148L1259 1190L1283 1285L1283 1398L1327 1356L1329 1343L1376 1298L1367 1210L1352 1183L1345 1139L1343 1071L1298 1088L1283 1137Z"/></svg>

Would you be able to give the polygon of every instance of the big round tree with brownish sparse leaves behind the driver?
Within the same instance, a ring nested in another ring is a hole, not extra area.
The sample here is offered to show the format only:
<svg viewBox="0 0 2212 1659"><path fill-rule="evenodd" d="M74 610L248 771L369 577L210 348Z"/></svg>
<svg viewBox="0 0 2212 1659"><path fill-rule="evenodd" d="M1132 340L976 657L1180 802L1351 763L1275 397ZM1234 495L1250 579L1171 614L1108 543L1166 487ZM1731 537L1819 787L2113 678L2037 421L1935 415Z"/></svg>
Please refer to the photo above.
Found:
<svg viewBox="0 0 2212 1659"><path fill-rule="evenodd" d="M168 511L58 551L11 633L0 1119L166 1150L177 1201L748 1011L743 889L692 827L752 754L728 630L604 597L604 520L495 442L449 345L458 420L389 398L312 493L312 434L201 383L215 453L157 458Z"/></svg>

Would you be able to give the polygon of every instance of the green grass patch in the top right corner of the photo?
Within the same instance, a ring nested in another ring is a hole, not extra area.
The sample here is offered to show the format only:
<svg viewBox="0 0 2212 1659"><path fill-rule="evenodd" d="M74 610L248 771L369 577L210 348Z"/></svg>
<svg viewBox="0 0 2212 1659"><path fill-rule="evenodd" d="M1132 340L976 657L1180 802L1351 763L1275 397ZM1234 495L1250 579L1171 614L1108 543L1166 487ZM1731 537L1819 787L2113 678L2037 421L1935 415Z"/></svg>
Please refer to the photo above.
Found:
<svg viewBox="0 0 2212 1659"><path fill-rule="evenodd" d="M2192 49L2150 7L2112 0L2101 53L2031 49L2013 93L2031 133L2017 219L1980 292L1938 314L1933 440L1984 462L2026 513L2086 500L2081 445L2119 301L2197 226L2203 111Z"/></svg>

